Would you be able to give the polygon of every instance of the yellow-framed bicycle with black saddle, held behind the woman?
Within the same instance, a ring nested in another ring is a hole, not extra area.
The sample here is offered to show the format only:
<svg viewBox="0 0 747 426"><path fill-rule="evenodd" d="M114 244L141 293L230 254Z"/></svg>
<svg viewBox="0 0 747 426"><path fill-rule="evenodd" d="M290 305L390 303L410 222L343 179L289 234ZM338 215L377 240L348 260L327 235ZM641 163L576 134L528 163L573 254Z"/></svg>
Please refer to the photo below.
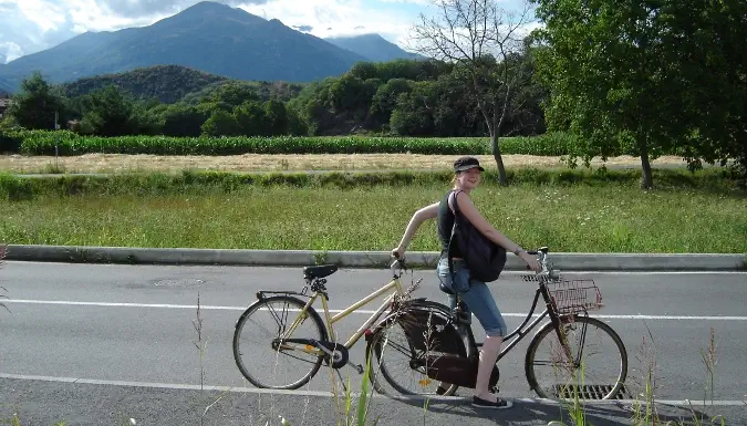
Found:
<svg viewBox="0 0 747 426"><path fill-rule="evenodd" d="M234 332L234 359L241 374L257 387L274 389L303 386L319 372L322 363L338 371L350 365L363 374L363 365L354 363L349 351L363 335L371 333L382 314L394 306L401 309L403 303L419 303L448 312L447 306L437 302L409 300L421 280L403 289L400 279L407 269L404 260L394 261L391 269L392 281L334 316L329 309L326 277L338 270L335 264L303 268L305 285L301 292L257 292L257 301L237 320ZM386 298L378 309L341 343L334 324L382 295ZM322 302L324 321L312 306L318 299Z"/></svg>

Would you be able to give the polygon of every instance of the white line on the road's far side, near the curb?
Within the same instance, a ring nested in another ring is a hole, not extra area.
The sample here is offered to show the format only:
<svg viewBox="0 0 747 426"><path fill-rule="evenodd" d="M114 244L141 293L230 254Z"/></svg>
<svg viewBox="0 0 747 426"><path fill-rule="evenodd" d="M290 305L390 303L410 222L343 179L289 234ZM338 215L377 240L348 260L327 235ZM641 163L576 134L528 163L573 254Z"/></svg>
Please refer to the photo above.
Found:
<svg viewBox="0 0 747 426"><path fill-rule="evenodd" d="M28 300L28 299L3 299L3 303L27 303L27 304L59 304L59 305L79 305L79 306L114 306L114 308L152 308L152 309L197 309L196 304L169 304L169 303L118 303L118 302L77 302L66 300ZM200 305L204 311L243 311L247 306L219 306ZM341 309L330 309L331 313L343 312ZM371 315L375 311L357 310L353 313ZM526 313L509 312L504 316L526 318ZM535 314L535 316L539 316ZM593 314L592 316L609 320L674 320L674 321L747 321L747 316L719 316L719 315L604 315Z"/></svg>

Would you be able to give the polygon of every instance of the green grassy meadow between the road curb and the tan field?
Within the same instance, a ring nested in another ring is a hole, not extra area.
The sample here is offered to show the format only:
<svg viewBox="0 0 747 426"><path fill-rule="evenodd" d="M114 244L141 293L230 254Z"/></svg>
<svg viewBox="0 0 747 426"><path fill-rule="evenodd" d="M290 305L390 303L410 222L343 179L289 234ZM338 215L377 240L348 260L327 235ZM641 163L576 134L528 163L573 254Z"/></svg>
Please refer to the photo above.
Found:
<svg viewBox="0 0 747 426"><path fill-rule="evenodd" d="M487 179L474 194L480 211L525 247L569 252L747 248L747 197L716 173L661 172L660 189L652 191L642 191L632 172L606 179L567 173L566 180L549 174L550 184L537 176L542 175L517 175L510 187ZM299 175L295 180L229 174L33 181L4 176L0 241L390 250L411 215L445 194L447 179L448 174ZM421 229L411 250L438 250L433 222Z"/></svg>

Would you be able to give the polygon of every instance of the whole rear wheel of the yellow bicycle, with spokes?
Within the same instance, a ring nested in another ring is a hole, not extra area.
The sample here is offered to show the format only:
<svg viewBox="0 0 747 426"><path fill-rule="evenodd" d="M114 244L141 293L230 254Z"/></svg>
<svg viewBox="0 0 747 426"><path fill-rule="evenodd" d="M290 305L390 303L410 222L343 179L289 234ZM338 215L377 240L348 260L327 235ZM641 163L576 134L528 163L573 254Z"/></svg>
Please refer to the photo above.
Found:
<svg viewBox="0 0 747 426"><path fill-rule="evenodd" d="M292 297L270 297L247 308L237 321L234 359L252 385L295 389L319 371L322 356L315 347L288 342L289 339L326 340L322 319L311 306L301 314L304 305Z"/></svg>

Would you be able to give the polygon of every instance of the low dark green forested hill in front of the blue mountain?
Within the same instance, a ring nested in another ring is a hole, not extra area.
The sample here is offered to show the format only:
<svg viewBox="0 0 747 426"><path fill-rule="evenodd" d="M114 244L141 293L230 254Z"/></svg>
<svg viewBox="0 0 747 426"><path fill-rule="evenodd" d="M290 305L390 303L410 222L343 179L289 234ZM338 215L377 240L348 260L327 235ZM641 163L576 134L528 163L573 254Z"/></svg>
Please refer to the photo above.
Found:
<svg viewBox="0 0 747 426"><path fill-rule="evenodd" d="M255 89L262 100L277 96L288 101L301 92L301 84L284 82L247 82L208 74L181 65L154 65L116 74L84 77L61 84L65 96L89 94L110 84L122 87L135 97L157 98L167 104L188 98L200 100L210 95L222 84L240 82Z"/></svg>

